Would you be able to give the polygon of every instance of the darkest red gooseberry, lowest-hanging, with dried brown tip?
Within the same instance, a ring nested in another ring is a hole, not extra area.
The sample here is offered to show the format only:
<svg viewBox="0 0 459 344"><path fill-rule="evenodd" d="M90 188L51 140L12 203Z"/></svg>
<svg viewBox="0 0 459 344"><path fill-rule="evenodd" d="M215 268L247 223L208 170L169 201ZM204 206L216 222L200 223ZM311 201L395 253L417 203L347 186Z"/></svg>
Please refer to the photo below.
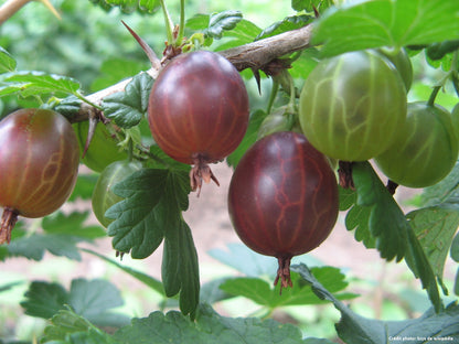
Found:
<svg viewBox="0 0 459 344"><path fill-rule="evenodd" d="M257 141L239 161L228 192L233 226L253 250L278 259L291 287L290 259L318 247L338 217L338 185L327 158L296 132Z"/></svg>

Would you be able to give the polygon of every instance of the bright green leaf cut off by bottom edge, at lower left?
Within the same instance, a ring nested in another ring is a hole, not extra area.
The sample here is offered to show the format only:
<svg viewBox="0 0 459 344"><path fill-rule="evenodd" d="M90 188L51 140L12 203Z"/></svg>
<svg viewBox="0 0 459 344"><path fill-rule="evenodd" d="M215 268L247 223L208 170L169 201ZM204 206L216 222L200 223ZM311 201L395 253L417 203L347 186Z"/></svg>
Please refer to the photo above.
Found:
<svg viewBox="0 0 459 344"><path fill-rule="evenodd" d="M52 319L51 324L44 329L41 343L85 343L85 344L115 344L111 336L94 326L88 320L71 310L61 310Z"/></svg>

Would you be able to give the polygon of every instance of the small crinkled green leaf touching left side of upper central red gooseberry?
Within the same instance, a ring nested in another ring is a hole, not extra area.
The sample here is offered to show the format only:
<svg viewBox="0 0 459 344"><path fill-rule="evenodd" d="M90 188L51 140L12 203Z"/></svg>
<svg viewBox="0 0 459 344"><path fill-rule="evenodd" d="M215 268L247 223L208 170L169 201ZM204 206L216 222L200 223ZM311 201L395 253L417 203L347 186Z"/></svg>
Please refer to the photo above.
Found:
<svg viewBox="0 0 459 344"><path fill-rule="evenodd" d="M103 108L106 117L113 119L121 128L137 126L147 112L153 78L147 73L136 75L126 86L104 98Z"/></svg>

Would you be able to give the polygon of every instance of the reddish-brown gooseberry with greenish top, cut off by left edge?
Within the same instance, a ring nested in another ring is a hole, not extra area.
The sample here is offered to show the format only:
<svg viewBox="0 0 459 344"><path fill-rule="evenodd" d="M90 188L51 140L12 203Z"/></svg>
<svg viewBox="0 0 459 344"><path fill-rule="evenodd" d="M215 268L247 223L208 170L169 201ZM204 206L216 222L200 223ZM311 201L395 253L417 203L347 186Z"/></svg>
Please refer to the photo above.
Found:
<svg viewBox="0 0 459 344"><path fill-rule="evenodd" d="M62 115L21 109L0 121L0 244L18 215L42 217L70 196L78 173L78 141Z"/></svg>

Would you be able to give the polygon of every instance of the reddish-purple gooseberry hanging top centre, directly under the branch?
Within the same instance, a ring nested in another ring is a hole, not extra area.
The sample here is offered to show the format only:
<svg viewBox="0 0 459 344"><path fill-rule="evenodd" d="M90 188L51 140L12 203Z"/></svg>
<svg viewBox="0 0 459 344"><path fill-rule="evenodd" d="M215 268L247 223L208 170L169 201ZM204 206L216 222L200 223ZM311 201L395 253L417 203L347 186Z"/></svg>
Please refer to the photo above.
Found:
<svg viewBox="0 0 459 344"><path fill-rule="evenodd" d="M241 143L248 96L237 69L207 51L182 54L162 69L151 89L148 119L154 141L171 158L193 164L191 186L215 176L218 162Z"/></svg>

